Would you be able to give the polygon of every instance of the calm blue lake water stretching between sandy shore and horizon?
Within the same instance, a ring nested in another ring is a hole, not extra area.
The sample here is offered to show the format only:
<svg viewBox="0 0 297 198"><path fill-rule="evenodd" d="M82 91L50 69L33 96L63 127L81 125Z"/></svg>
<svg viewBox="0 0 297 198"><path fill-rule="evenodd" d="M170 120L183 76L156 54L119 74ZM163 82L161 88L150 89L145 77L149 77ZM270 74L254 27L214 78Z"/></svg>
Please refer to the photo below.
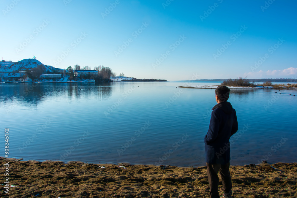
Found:
<svg viewBox="0 0 297 198"><path fill-rule="evenodd" d="M214 89L176 88L184 84L1 83L0 156L9 128L11 158L205 166ZM264 157L268 163L297 161L293 95L296 90L232 90L228 101L239 129L230 138L232 165Z"/></svg>

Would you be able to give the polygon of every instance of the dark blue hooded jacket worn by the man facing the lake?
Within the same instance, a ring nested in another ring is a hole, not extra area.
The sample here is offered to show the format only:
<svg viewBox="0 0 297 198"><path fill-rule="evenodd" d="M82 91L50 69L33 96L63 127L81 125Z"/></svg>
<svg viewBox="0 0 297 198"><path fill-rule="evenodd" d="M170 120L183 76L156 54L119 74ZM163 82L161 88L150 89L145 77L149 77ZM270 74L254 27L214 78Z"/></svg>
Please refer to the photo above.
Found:
<svg viewBox="0 0 297 198"><path fill-rule="evenodd" d="M230 102L220 102L212 109L209 129L204 137L206 162L230 162L230 137L237 132L236 112Z"/></svg>

